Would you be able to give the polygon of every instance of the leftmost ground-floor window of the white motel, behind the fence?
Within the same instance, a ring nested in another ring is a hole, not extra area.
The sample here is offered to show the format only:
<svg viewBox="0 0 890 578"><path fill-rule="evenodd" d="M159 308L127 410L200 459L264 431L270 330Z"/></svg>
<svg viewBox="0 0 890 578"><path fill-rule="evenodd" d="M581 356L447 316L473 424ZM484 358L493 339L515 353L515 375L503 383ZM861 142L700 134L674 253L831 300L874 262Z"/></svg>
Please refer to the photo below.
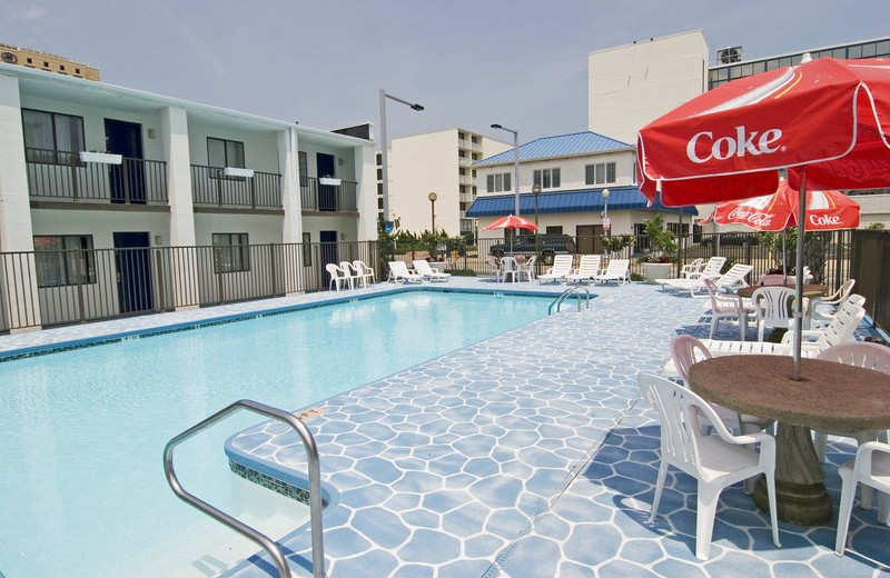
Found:
<svg viewBox="0 0 890 578"><path fill-rule="evenodd" d="M96 257L91 249L91 235L34 236L37 286L95 283Z"/></svg>

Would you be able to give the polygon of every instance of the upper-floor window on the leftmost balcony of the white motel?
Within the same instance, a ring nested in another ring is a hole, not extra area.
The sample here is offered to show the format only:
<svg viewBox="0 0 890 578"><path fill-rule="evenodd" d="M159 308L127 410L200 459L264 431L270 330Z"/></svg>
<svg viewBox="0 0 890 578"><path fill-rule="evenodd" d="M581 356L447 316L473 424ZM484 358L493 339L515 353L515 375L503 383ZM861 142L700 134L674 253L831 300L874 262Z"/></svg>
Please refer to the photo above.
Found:
<svg viewBox="0 0 890 578"><path fill-rule="evenodd" d="M85 150L83 119L42 110L22 109L24 149L29 162L71 165Z"/></svg>

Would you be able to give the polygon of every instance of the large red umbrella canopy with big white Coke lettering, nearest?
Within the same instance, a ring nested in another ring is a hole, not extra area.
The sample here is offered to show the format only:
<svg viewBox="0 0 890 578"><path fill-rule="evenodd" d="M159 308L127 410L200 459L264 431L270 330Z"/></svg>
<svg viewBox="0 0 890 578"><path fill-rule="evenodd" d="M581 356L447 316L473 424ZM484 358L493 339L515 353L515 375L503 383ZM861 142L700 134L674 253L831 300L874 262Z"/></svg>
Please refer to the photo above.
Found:
<svg viewBox="0 0 890 578"><path fill-rule="evenodd" d="M728 82L644 127L641 190L675 207L774 191L890 185L890 60L821 58Z"/></svg>

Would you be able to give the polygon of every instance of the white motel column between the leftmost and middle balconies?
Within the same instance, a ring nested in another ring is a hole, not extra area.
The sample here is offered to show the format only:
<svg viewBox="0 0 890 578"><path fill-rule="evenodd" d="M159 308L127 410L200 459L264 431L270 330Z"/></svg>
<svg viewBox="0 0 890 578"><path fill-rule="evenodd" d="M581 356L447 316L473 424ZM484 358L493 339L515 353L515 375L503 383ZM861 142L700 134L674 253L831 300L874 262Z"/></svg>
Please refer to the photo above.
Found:
<svg viewBox="0 0 890 578"><path fill-rule="evenodd" d="M170 286L176 309L200 305L198 249L195 247L195 210L191 200L191 160L188 148L188 114L165 108L160 113L161 142L167 161L167 192L170 203Z"/></svg>

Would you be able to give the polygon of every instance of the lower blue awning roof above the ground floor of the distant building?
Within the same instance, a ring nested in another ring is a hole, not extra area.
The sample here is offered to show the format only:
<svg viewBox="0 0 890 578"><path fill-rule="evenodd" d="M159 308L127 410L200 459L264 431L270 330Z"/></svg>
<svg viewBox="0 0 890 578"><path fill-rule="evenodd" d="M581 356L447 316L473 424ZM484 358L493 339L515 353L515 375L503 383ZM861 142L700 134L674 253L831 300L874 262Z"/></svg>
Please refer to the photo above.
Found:
<svg viewBox="0 0 890 578"><path fill-rule="evenodd" d="M466 210L467 218L501 217L512 215L515 208L513 195L498 195L477 197ZM683 215L699 215L695 207L671 207L661 202L647 205L646 198L640 192L639 187L610 187L609 209L613 211L627 209L647 209L652 211L683 211ZM581 189L571 191L542 192L537 196L537 212L540 215L555 212L584 212L602 211L603 189ZM535 197L531 192L520 193L520 213L530 216L535 212Z"/></svg>

